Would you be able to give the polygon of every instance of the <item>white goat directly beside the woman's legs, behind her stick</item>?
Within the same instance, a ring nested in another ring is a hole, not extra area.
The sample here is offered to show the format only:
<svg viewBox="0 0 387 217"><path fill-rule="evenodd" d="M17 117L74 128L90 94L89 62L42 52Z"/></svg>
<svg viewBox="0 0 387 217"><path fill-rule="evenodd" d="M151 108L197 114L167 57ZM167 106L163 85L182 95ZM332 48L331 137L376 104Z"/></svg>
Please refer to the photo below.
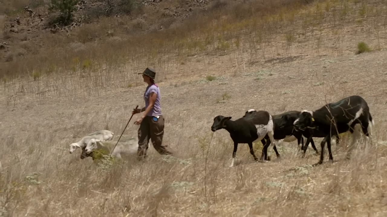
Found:
<svg viewBox="0 0 387 217"><path fill-rule="evenodd" d="M109 154L115 156L116 158L121 159L122 156L128 156L137 153L139 147L139 139L137 137L130 139L120 139L117 146L115 141L101 141L99 139L90 139L86 145L85 151L87 154L95 150L103 150ZM113 151L111 151L114 148Z"/></svg>

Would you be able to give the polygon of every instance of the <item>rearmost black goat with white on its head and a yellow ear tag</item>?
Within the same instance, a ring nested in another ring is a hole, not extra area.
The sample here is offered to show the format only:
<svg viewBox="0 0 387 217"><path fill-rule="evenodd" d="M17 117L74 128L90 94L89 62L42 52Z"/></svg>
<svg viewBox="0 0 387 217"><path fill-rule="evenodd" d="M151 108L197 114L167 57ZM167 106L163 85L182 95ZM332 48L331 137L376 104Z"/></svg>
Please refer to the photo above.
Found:
<svg viewBox="0 0 387 217"><path fill-rule="evenodd" d="M349 158L354 143L360 136L357 126L360 124L361 129L366 136L366 144L372 136L372 125L374 122L370 114L367 102L358 95L343 98L334 103L328 103L315 111L301 111L298 119L295 120L295 130L305 131L306 129L319 129L325 135L321 141L320 161L314 165L322 164L324 158L324 146L327 143L329 160L333 162L332 151L330 148L331 137L336 137L343 132L351 132L352 141L347 153ZM356 127L356 128L355 128Z"/></svg>

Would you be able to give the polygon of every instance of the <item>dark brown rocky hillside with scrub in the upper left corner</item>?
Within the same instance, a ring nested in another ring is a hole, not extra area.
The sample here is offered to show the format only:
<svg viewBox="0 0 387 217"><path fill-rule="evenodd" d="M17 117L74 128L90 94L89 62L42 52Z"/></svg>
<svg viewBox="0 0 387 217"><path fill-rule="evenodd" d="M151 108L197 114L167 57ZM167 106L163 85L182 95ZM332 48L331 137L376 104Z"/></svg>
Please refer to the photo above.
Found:
<svg viewBox="0 0 387 217"><path fill-rule="evenodd" d="M79 0L72 22L58 25L53 22L58 13L49 10L50 2L0 1L5 5L0 9L3 27L0 62L38 54L39 47L52 46L46 41L53 35L82 43L122 38L139 32L162 31L196 12L226 5L208 0Z"/></svg>

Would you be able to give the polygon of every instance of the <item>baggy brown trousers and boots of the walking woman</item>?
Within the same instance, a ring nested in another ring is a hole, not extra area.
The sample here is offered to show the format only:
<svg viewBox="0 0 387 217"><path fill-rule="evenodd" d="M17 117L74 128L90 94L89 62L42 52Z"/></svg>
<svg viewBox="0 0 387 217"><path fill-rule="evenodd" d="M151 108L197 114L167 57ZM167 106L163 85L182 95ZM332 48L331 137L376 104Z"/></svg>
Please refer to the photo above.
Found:
<svg viewBox="0 0 387 217"><path fill-rule="evenodd" d="M138 131L139 136L139 148L137 155L139 159L146 158L146 152L148 150L149 139L152 141L154 149L159 154L172 155L173 152L168 145L163 144L164 136L164 117L160 115L157 121L153 120L151 116L146 116L140 124Z"/></svg>

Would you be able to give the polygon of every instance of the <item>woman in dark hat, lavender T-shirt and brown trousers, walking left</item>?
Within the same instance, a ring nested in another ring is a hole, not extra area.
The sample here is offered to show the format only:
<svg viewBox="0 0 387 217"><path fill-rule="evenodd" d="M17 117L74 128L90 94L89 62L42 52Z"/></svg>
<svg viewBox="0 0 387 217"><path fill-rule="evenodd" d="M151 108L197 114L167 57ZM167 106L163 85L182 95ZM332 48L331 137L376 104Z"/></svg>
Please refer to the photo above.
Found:
<svg viewBox="0 0 387 217"><path fill-rule="evenodd" d="M172 155L172 150L168 145L163 145L164 136L164 117L161 114L160 104L160 88L154 83L156 72L152 68L146 68L142 74L144 82L148 84L145 93L145 107L134 109L132 114L140 113L139 119L134 124L140 125L139 148L137 154L139 159L146 158L146 151L148 149L149 139L152 140L152 145L159 154Z"/></svg>

